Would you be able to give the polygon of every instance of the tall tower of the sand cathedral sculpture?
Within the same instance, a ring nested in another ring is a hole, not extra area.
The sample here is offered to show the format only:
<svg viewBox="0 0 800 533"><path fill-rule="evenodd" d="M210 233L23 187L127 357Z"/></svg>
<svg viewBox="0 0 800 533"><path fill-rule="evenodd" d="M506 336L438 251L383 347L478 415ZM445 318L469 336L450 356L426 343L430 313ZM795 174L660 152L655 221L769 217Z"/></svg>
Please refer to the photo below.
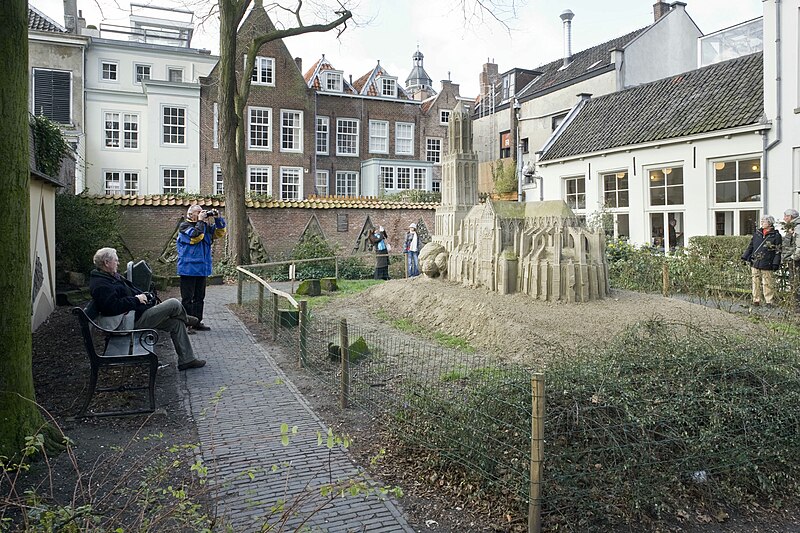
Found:
<svg viewBox="0 0 800 533"><path fill-rule="evenodd" d="M461 221L478 204L478 154L472 150L472 120L461 102L450 113L447 136L450 149L442 160L442 204L433 240L451 252Z"/></svg>

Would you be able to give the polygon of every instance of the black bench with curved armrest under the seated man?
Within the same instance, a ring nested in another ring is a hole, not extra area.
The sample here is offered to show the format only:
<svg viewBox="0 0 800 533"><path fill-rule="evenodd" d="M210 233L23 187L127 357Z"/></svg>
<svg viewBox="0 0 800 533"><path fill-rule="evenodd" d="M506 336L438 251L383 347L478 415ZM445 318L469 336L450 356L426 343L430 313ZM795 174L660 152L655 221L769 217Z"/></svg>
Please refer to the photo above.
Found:
<svg viewBox="0 0 800 533"><path fill-rule="evenodd" d="M86 352L89 355L91 365L91 377L89 379L89 394L86 401L78 413L83 416L124 416L152 413L156 409L156 372L158 371L158 357L155 354L158 333L154 329L133 329L133 330L107 330L97 325L93 320L97 318L94 306L90 303L86 309L75 307L72 309L78 317L83 342L86 345ZM103 353L97 353L95 349L92 331L100 331L105 335L105 347ZM97 375L103 367L116 366L147 366L149 367L149 384L147 387L128 387L125 385L117 387L97 387ZM86 413L92 396L95 392L122 392L128 390L148 390L150 406L147 409L134 409L128 411L105 411L99 413Z"/></svg>

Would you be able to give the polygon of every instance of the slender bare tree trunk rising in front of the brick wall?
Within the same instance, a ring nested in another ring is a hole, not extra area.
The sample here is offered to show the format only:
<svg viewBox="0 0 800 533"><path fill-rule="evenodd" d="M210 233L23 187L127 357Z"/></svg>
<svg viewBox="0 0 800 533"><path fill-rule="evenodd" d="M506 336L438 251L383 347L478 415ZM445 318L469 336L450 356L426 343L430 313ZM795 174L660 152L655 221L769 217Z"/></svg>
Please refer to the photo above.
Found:
<svg viewBox="0 0 800 533"><path fill-rule="evenodd" d="M225 184L225 214L228 217L228 257L234 265L250 263L245 206L244 127L238 114L236 93L236 30L241 21L235 2L219 2L219 126L222 176ZM242 106L243 108L243 106Z"/></svg>

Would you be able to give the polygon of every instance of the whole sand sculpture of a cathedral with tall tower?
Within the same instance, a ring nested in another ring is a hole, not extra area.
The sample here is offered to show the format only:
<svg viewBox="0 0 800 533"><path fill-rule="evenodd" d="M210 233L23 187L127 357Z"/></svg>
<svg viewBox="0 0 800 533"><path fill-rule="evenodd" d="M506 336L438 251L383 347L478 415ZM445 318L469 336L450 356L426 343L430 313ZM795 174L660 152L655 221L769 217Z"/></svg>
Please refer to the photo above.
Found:
<svg viewBox="0 0 800 533"><path fill-rule="evenodd" d="M459 103L450 115L442 162L442 204L422 272L501 294L586 302L608 294L605 237L562 200L478 202L472 124Z"/></svg>

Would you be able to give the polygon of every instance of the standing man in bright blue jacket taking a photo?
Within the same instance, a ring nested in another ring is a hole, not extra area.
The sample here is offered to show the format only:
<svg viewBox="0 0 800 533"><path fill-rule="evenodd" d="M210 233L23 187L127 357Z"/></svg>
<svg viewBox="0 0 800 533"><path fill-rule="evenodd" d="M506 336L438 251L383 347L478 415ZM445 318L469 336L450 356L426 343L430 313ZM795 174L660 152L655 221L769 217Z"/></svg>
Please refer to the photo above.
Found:
<svg viewBox="0 0 800 533"><path fill-rule="evenodd" d="M178 227L178 275L181 277L181 300L186 312L200 321L193 329L208 331L203 324L206 279L211 275L211 245L225 235L225 219L216 209L204 211L194 204ZM190 333L194 333L191 329Z"/></svg>

